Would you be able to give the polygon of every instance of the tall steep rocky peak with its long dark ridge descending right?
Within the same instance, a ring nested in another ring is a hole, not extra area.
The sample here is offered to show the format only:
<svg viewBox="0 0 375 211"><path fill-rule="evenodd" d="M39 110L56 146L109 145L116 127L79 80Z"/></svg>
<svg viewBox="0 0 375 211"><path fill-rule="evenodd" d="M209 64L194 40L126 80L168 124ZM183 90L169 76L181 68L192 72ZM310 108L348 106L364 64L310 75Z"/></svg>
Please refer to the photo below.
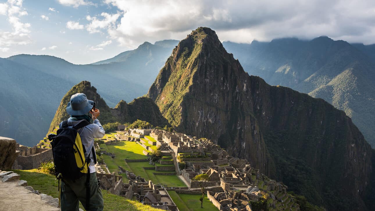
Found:
<svg viewBox="0 0 375 211"><path fill-rule="evenodd" d="M210 138L314 204L375 208L375 152L350 117L249 76L210 28L181 40L148 97L177 131Z"/></svg>

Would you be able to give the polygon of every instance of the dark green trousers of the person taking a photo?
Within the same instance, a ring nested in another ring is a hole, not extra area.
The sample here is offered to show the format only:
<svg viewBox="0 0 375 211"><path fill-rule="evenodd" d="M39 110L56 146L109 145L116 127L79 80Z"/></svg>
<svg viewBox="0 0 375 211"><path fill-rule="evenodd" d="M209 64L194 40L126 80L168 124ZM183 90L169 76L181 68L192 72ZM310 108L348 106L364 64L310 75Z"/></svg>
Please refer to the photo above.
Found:
<svg viewBox="0 0 375 211"><path fill-rule="evenodd" d="M62 211L78 211L79 202L83 205L86 211L102 211L103 210L103 196L100 190L96 172L90 174L90 205L86 207L86 175L79 180L61 181L61 210Z"/></svg>

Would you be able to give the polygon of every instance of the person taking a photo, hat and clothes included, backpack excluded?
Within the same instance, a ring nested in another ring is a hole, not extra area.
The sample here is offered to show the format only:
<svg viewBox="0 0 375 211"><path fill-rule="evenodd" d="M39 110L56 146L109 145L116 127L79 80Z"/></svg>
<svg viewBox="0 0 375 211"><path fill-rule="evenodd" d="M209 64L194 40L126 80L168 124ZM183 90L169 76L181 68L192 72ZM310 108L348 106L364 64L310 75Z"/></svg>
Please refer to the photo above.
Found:
<svg viewBox="0 0 375 211"><path fill-rule="evenodd" d="M94 166L94 160L96 162L96 154L94 145L94 138L103 138L105 131L97 119L100 111L95 108L94 101L87 100L87 97L83 93L77 93L72 95L68 106L66 107L66 112L71 115L68 119L68 125L77 125L84 120L88 122L91 121L91 117L88 115L89 112L92 114L93 123L84 126L83 128L77 129L78 134L80 134L82 144L86 149L84 153L85 158L90 155L90 165L89 165L89 207L87 207L87 187L86 179L87 175L78 180L69 180L62 178L61 182L61 210L62 211L78 211L79 202L84 206L86 211L102 211L103 210L103 196L100 190L98 179L96 178L96 171ZM60 123L60 128L63 126L63 122Z"/></svg>

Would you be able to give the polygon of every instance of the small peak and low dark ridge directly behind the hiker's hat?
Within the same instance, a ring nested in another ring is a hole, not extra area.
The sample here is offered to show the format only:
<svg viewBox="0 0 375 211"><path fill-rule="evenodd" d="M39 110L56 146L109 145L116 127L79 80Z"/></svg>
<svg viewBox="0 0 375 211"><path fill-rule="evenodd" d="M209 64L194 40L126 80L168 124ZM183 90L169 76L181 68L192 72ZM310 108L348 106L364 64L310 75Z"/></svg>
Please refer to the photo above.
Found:
<svg viewBox="0 0 375 211"><path fill-rule="evenodd" d="M76 93L84 93L89 100L95 102L95 107L100 110L98 119L102 125L110 122L132 123L137 119L149 122L154 126L168 125L168 121L162 116L159 108L150 98L136 98L129 104L121 100L115 108L110 108L96 92L96 88L91 86L90 82L82 81L73 86L62 98L60 106L58 106L51 125L49 126L49 132L53 131L60 122L70 117L69 114L66 113L66 106L71 96Z"/></svg>

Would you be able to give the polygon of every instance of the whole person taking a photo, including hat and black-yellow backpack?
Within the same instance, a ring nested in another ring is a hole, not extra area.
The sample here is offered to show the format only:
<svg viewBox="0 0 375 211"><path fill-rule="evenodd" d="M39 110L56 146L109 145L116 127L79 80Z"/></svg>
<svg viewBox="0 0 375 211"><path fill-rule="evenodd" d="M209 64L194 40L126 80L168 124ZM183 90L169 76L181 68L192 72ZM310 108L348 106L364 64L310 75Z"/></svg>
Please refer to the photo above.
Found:
<svg viewBox="0 0 375 211"><path fill-rule="evenodd" d="M57 136L52 141L56 176L62 179L61 210L78 211L80 201L86 211L102 211L103 196L94 166L94 138L102 138L105 134L97 119L100 111L95 108L94 101L87 100L83 93L77 93L72 95L66 112L71 117L60 123Z"/></svg>

